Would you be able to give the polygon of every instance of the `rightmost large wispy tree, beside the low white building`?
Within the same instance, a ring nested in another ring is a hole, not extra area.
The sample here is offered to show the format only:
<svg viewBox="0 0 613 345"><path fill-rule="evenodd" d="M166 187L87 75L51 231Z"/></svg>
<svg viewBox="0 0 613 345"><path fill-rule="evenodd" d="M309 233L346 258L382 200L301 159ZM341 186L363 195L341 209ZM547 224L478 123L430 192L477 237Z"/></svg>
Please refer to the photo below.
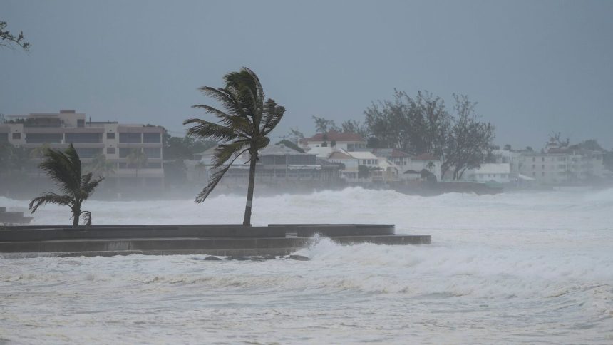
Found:
<svg viewBox="0 0 613 345"><path fill-rule="evenodd" d="M452 178L458 180L466 169L479 168L485 162L493 150L495 133L491 123L478 121L476 103L468 101L467 96L454 94L453 98L458 118L443 152L441 175L453 168Z"/></svg>

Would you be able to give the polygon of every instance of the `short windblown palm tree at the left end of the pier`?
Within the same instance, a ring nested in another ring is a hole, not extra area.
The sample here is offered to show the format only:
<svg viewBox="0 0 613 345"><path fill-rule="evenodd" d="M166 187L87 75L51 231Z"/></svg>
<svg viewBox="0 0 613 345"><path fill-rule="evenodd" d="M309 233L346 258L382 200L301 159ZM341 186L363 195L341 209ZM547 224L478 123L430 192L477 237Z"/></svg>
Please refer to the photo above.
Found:
<svg viewBox="0 0 613 345"><path fill-rule="evenodd" d="M81 160L78 158L73 144L64 152L47 150L45 160L39 167L66 194L58 195L53 192L46 192L39 197L35 197L29 206L32 213L36 212L38 207L43 204L66 205L71 207L73 213L73 227L78 227L78 219L81 215L86 222L85 225L91 225L91 212L81 211L81 204L92 195L93 190L98 187L104 177L98 177L97 180L92 179L91 172L81 175Z"/></svg>

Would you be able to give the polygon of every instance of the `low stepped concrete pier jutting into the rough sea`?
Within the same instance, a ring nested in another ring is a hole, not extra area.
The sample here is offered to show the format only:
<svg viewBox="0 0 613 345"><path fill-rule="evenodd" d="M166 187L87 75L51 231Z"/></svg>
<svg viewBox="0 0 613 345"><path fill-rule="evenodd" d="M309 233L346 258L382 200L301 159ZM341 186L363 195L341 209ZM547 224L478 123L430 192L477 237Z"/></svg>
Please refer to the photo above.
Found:
<svg viewBox="0 0 613 345"><path fill-rule="evenodd" d="M125 254L285 255L315 234L340 244L430 244L430 235L395 235L393 225L272 224L22 226L0 229L0 256Z"/></svg>

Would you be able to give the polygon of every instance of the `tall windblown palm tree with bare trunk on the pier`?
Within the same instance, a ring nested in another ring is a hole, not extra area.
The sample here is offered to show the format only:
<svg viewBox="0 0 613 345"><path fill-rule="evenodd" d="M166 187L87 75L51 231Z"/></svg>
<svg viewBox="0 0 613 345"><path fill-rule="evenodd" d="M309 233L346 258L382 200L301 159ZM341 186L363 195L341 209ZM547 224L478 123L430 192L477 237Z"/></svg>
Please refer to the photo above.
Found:
<svg viewBox="0 0 613 345"><path fill-rule="evenodd" d="M195 124L187 130L188 135L222 142L213 154L213 166L217 171L211 175L208 185L195 201L205 201L232 163L243 153L249 152L249 187L243 225L250 225L257 152L270 143L267 135L281 121L285 108L272 99L264 101L262 84L249 68L243 67L238 72L227 73L224 81L225 88L202 86L199 90L219 102L225 111L209 105L192 106L214 115L220 123L199 118L190 118L183 122L183 125ZM222 168L223 165L225 166Z"/></svg>

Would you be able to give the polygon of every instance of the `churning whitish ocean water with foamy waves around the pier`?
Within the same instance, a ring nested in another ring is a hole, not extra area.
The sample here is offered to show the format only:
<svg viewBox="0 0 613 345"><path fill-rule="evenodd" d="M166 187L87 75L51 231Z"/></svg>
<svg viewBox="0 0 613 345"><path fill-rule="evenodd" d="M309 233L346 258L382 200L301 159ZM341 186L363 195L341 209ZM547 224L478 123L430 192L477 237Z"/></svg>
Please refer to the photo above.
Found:
<svg viewBox="0 0 613 345"><path fill-rule="evenodd" d="M0 197L0 206L27 202ZM244 197L86 202L94 224L239 223ZM36 224L68 224L46 206ZM254 200L254 225L378 222L428 246L309 262L0 259L0 343L613 344L613 190L417 197L349 188Z"/></svg>

